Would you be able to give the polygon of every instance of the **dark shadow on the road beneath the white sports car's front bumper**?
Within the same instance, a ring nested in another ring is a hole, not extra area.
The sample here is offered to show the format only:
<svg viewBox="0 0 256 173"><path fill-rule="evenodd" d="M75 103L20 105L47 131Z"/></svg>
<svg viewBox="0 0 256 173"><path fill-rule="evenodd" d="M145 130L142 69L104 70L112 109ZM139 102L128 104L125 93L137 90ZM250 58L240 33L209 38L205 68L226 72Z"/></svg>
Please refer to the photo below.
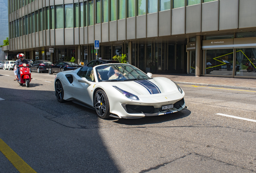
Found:
<svg viewBox="0 0 256 173"><path fill-rule="evenodd" d="M118 119L114 123L124 124L124 125L146 125L146 124L157 124L167 121L173 121L176 119L182 119L188 117L191 114L189 109L184 109L178 113L172 113L167 115L161 115L156 117L145 117L141 119Z"/></svg>

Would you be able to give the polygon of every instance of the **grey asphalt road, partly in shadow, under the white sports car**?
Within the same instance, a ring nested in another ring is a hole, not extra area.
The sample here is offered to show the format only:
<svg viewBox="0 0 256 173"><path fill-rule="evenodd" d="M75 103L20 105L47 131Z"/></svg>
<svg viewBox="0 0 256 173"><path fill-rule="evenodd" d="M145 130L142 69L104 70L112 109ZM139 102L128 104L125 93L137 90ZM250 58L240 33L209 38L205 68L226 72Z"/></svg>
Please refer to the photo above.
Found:
<svg viewBox="0 0 256 173"><path fill-rule="evenodd" d="M32 77L0 70L0 139L37 173L256 172L255 91L180 84L186 110L103 120L59 103L54 74ZM0 173L18 172L0 152Z"/></svg>

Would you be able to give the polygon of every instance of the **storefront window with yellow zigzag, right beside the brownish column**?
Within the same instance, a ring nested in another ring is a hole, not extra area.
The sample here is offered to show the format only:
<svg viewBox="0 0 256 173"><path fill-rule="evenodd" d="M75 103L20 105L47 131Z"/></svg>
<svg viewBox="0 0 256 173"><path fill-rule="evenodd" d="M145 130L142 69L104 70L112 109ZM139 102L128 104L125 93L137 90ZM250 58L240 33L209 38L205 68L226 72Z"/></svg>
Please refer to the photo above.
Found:
<svg viewBox="0 0 256 173"><path fill-rule="evenodd" d="M233 75L233 49L206 50L205 74Z"/></svg>

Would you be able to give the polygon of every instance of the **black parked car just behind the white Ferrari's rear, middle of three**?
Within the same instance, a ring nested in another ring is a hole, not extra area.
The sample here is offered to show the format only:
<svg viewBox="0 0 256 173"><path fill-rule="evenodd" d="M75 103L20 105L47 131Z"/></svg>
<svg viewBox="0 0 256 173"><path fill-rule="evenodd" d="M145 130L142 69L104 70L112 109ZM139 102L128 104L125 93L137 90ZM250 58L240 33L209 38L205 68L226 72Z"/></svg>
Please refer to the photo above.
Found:
<svg viewBox="0 0 256 173"><path fill-rule="evenodd" d="M54 72L61 72L66 70L75 70L76 68L80 68L81 65L78 65L74 62L59 62L54 66L51 66L48 70L49 74Z"/></svg>

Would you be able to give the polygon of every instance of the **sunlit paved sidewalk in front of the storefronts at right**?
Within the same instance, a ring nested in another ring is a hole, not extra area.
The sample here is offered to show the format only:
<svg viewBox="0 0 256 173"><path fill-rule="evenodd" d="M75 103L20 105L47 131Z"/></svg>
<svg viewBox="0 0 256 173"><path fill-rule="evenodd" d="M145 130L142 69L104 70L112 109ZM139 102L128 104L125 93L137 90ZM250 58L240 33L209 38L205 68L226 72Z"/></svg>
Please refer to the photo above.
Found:
<svg viewBox="0 0 256 173"><path fill-rule="evenodd" d="M210 87L256 90L256 79L192 76L189 74L153 74L152 77L166 77L177 84L192 84Z"/></svg>

